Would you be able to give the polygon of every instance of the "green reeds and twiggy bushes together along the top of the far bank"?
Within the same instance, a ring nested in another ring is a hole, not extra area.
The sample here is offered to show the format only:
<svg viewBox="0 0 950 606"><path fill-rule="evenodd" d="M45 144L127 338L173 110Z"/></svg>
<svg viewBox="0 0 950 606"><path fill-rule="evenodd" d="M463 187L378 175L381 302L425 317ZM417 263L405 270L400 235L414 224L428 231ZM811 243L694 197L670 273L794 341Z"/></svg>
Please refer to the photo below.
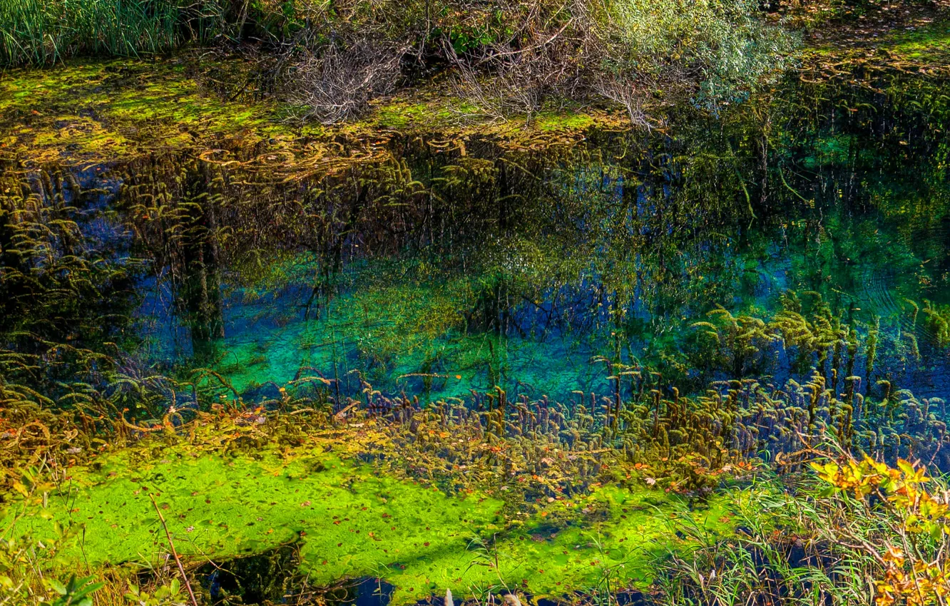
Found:
<svg viewBox="0 0 950 606"><path fill-rule="evenodd" d="M446 73L470 117L531 121L567 101L599 99L651 124L644 106L664 95L685 93L712 111L744 98L786 65L793 39L750 0L10 0L0 8L0 66L187 44L239 48L258 65L244 89L276 92L297 117L320 123L351 120L399 86Z"/></svg>

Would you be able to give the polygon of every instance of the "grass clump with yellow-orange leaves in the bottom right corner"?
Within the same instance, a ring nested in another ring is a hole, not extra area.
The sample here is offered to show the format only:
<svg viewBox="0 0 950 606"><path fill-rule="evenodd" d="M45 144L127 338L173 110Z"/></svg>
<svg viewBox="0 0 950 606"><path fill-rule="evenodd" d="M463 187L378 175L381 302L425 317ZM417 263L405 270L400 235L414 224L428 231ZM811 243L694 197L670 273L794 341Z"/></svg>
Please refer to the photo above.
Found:
<svg viewBox="0 0 950 606"><path fill-rule="evenodd" d="M833 451L832 451L833 452ZM794 493L735 493L745 532L686 532L702 547L662 562L664 603L940 604L947 593L944 482L919 465L830 455Z"/></svg>

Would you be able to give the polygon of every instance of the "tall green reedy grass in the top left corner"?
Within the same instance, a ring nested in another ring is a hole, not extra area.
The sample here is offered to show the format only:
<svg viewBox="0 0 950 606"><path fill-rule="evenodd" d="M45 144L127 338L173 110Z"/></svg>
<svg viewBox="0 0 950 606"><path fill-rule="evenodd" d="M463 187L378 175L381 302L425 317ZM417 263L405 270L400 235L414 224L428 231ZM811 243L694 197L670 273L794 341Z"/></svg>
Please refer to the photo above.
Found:
<svg viewBox="0 0 950 606"><path fill-rule="evenodd" d="M212 35L217 2L3 0L0 66L47 65L78 54L136 56Z"/></svg>

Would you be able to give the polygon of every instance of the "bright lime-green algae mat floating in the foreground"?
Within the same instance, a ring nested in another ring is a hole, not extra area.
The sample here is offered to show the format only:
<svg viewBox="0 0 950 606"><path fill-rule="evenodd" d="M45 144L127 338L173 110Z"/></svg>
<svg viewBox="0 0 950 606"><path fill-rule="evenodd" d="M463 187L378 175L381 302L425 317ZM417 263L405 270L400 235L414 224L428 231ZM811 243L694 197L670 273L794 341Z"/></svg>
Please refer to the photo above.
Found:
<svg viewBox="0 0 950 606"><path fill-rule="evenodd" d="M487 493L447 496L323 447L151 455L107 455L61 489L10 502L7 534L55 540L62 526L66 562L144 564L167 551L152 494L184 558L220 561L299 541L312 582L385 578L400 604L447 588L562 596L596 585L607 569L643 584L656 553L676 541L673 519L712 528L728 518L721 505L688 512L663 493L617 486L528 513Z"/></svg>

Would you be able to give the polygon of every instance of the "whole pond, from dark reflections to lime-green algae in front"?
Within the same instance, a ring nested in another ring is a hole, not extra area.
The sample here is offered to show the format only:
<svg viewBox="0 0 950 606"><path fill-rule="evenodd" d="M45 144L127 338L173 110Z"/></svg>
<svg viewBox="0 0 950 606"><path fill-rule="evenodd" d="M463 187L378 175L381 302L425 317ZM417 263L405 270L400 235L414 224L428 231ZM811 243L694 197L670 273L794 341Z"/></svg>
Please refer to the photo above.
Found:
<svg viewBox="0 0 950 606"><path fill-rule="evenodd" d="M819 433L950 471L947 83L860 71L649 129L4 160L0 387L122 436L5 527L86 568L174 537L213 599L561 599L647 589Z"/></svg>

